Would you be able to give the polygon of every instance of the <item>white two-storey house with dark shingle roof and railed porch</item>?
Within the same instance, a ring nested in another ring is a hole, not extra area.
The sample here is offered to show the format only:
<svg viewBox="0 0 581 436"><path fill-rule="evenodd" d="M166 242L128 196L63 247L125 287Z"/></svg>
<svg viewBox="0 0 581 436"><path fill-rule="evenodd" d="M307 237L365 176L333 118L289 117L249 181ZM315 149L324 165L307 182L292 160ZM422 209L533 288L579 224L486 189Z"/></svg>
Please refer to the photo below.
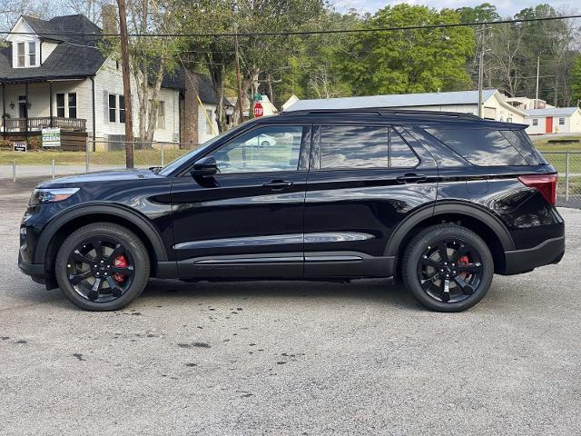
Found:
<svg viewBox="0 0 581 436"><path fill-rule="evenodd" d="M23 15L17 20L5 38L7 44L0 48L4 138L60 127L97 143L123 141L125 107L130 102L123 96L120 63L99 49L101 35L101 28L84 15L48 21ZM188 98L188 92L198 94L202 104L197 96ZM133 77L132 97L137 134L139 107ZM206 77L195 74L192 80L183 70L168 74L159 100L154 141L200 144L217 131L217 102Z"/></svg>

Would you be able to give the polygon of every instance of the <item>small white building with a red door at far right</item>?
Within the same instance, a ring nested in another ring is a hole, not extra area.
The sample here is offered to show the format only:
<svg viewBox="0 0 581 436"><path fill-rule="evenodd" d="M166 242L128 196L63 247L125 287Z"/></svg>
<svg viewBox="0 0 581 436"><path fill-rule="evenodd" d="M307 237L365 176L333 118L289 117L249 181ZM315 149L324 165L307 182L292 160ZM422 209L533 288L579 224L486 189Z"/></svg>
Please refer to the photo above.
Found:
<svg viewBox="0 0 581 436"><path fill-rule="evenodd" d="M527 134L580 134L581 110L578 107L551 107L525 111Z"/></svg>

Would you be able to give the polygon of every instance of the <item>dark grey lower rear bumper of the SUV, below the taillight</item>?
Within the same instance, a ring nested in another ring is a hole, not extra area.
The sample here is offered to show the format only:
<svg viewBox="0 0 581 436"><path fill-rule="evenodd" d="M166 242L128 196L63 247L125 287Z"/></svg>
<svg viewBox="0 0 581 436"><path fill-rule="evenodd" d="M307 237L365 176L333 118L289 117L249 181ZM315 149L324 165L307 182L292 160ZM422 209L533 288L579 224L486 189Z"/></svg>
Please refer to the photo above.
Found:
<svg viewBox="0 0 581 436"><path fill-rule="evenodd" d="M565 236L547 239L536 247L505 252L506 268L503 274L519 274L538 266L559 263L565 254Z"/></svg>

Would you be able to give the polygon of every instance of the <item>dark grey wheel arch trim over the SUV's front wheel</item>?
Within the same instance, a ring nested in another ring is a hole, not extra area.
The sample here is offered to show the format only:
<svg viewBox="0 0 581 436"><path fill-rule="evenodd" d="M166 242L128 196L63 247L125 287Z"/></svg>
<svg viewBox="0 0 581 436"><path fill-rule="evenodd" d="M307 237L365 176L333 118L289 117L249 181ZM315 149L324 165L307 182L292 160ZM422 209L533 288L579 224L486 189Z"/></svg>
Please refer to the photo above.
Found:
<svg viewBox="0 0 581 436"><path fill-rule="evenodd" d="M167 261L162 238L153 224L140 213L113 204L84 204L54 218L41 233L34 251L34 263L44 263L44 270L54 279L54 259L58 247L76 229L89 223L117 223L135 233L147 248L152 275L157 272L157 263ZM49 280L49 284L55 281Z"/></svg>

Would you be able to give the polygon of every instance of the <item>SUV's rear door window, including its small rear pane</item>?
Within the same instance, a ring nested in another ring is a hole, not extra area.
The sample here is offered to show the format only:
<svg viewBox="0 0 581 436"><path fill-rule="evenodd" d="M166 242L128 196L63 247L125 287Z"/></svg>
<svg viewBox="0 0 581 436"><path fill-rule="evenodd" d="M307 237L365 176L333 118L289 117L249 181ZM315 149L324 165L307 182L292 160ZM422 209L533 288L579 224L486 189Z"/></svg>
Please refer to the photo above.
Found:
<svg viewBox="0 0 581 436"><path fill-rule="evenodd" d="M416 166L418 157L388 127L323 125L320 168L389 168Z"/></svg>

